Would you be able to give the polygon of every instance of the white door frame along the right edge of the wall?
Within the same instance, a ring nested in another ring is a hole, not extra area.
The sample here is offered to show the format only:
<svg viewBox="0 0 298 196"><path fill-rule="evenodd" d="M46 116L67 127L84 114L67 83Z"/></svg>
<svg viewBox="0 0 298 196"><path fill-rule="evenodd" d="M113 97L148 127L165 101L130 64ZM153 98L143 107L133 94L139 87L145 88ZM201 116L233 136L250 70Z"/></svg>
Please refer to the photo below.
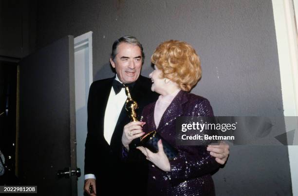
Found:
<svg viewBox="0 0 298 196"><path fill-rule="evenodd" d="M289 145L293 196L298 196L298 29L295 20L298 0L272 0L284 116L296 116L296 124L285 118L286 131L295 129L294 144ZM295 5L295 9L294 9ZM296 17L297 18L297 17Z"/></svg>

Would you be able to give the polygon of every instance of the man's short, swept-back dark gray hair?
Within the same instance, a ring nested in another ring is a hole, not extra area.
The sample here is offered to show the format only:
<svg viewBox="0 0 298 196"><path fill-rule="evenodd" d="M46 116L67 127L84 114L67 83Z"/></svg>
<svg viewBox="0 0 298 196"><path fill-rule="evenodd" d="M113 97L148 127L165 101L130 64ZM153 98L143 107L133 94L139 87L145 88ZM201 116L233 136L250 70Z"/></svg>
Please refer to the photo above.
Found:
<svg viewBox="0 0 298 196"><path fill-rule="evenodd" d="M116 41L114 41L113 46L112 46L112 53L111 53L112 60L115 59L115 57L117 55L117 47L121 42L126 42L126 43L129 43L129 44L132 44L132 45L137 45L138 47L140 47L141 53L142 53L142 65L143 65L144 59L145 59L143 46L139 42L139 40L137 40L137 38L135 38L134 36L122 36L119 39L117 39Z"/></svg>

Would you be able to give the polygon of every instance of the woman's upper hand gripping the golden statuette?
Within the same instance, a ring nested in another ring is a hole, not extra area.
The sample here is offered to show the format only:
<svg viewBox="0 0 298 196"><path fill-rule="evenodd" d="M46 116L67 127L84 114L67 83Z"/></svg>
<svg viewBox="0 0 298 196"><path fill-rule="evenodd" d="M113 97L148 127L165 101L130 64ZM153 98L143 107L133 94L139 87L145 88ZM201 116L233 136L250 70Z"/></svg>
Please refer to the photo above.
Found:
<svg viewBox="0 0 298 196"><path fill-rule="evenodd" d="M129 150L129 144L131 143L132 140L141 137L145 133L142 130L142 126L145 125L145 122L130 122L129 124L125 125L123 128L123 133L122 133L122 144L123 146Z"/></svg>

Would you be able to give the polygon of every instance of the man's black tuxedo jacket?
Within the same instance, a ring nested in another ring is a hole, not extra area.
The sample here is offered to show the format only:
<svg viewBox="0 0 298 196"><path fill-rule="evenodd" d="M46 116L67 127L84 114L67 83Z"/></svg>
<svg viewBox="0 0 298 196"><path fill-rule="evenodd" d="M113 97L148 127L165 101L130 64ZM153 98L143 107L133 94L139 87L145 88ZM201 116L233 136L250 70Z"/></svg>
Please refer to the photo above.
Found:
<svg viewBox="0 0 298 196"><path fill-rule="evenodd" d="M130 150L129 157L131 159L129 160L131 161L124 163L121 159L123 127L130 122L130 118L124 107L121 110L112 134L111 145L104 138L104 115L114 78L95 81L89 90L88 134L85 143L85 174L94 174L96 176L97 195L105 193L105 190L111 194L111 188L115 189L115 186L111 186L112 184L117 184L119 188L120 184L126 184L126 182L133 180L132 178L138 178L134 174L142 170L141 167L138 167L139 164L135 163L136 157L141 157L141 153L137 149ZM157 100L157 93L152 92L150 88L151 80L140 75L130 90L132 99L138 103L138 114L141 114L143 107ZM136 165L134 166L134 164ZM129 172L129 174L126 172ZM139 181L140 179L137 180ZM141 183L143 184L143 182ZM146 182L144 183L146 185ZM130 182L130 186L133 184Z"/></svg>

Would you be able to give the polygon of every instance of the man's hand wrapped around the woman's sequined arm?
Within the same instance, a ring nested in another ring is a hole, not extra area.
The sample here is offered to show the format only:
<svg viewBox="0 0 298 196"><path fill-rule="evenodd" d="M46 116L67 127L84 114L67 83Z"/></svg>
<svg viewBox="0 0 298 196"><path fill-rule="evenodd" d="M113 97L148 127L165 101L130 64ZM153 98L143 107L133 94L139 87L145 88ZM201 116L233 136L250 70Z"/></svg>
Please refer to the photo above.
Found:
<svg viewBox="0 0 298 196"><path fill-rule="evenodd" d="M210 151L210 155L215 157L216 162L224 164L229 156L229 144L221 141L219 145L208 145L207 151Z"/></svg>

